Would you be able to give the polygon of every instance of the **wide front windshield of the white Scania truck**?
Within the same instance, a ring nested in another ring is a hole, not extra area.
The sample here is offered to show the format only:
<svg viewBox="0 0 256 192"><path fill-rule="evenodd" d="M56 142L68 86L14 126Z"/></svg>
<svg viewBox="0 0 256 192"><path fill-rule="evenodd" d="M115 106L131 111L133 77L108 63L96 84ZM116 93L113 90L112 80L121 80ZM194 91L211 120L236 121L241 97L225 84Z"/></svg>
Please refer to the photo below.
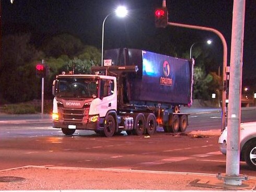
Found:
<svg viewBox="0 0 256 192"><path fill-rule="evenodd" d="M56 96L65 98L98 97L98 80L88 78L60 78L56 81Z"/></svg>

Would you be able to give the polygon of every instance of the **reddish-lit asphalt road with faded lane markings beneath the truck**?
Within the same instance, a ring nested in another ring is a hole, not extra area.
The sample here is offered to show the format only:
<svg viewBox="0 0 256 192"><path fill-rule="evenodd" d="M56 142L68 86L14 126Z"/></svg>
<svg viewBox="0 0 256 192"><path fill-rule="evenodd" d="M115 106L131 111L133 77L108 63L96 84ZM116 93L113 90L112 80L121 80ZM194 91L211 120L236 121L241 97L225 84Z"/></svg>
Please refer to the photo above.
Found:
<svg viewBox="0 0 256 192"><path fill-rule="evenodd" d="M191 115L188 130L219 129L217 113ZM216 117L216 118L215 118ZM252 121L255 113L243 113ZM158 132L150 138L121 134L101 137L94 131L64 136L49 123L2 124L0 170L25 165L225 173L218 137L192 137ZM241 174L256 176L241 162Z"/></svg>

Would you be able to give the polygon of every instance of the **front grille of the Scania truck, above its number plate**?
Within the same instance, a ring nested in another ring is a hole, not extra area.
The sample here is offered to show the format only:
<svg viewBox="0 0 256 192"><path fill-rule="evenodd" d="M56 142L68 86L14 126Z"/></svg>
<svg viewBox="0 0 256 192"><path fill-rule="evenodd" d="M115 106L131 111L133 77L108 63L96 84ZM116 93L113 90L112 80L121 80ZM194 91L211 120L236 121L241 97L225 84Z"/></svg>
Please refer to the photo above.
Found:
<svg viewBox="0 0 256 192"><path fill-rule="evenodd" d="M83 118L87 119L89 108L84 109L63 109L62 116L64 123L82 123Z"/></svg>

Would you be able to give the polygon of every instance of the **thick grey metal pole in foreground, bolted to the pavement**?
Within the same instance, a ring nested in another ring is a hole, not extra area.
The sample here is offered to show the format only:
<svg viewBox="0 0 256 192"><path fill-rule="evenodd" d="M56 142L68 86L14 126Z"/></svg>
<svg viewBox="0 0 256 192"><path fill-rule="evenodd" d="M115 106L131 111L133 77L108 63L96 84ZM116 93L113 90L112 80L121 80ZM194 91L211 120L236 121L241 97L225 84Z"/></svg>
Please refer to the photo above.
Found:
<svg viewBox="0 0 256 192"><path fill-rule="evenodd" d="M243 31L245 25L245 0L234 0L231 54L230 86L228 107L228 135L225 184L241 185L245 178L239 177L240 163L240 122ZM239 179L240 178L240 179Z"/></svg>

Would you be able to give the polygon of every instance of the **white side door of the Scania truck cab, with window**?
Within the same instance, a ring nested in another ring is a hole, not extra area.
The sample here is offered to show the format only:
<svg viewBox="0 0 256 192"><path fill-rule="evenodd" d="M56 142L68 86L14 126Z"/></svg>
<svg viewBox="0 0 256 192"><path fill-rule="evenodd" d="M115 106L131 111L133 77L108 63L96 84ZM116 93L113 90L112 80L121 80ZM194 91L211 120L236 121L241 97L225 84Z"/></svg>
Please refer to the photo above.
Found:
<svg viewBox="0 0 256 192"><path fill-rule="evenodd" d="M106 116L109 110L117 110L117 93L114 80L101 79L100 81L100 117Z"/></svg>

